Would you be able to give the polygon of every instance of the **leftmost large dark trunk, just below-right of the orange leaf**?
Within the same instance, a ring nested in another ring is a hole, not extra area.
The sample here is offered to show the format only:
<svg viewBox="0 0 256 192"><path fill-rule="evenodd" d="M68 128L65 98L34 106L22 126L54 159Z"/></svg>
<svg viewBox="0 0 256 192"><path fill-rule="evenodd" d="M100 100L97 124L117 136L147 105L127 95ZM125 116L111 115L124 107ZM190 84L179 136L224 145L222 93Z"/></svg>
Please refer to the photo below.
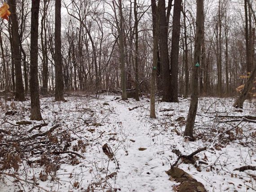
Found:
<svg viewBox="0 0 256 192"><path fill-rule="evenodd" d="M25 101L24 86L22 80L21 54L19 46L18 20L16 14L16 0L9 0L10 18L12 22L12 47L15 66L15 99Z"/></svg>

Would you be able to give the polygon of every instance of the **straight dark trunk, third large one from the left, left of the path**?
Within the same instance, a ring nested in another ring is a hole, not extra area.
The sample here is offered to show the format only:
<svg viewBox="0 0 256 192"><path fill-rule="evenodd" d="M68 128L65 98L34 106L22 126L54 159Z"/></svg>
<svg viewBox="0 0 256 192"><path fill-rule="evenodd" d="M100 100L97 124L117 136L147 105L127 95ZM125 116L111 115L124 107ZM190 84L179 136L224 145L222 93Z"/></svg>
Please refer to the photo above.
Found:
<svg viewBox="0 0 256 192"><path fill-rule="evenodd" d="M55 100L65 100L63 96L62 42L61 42L61 0L55 0Z"/></svg>

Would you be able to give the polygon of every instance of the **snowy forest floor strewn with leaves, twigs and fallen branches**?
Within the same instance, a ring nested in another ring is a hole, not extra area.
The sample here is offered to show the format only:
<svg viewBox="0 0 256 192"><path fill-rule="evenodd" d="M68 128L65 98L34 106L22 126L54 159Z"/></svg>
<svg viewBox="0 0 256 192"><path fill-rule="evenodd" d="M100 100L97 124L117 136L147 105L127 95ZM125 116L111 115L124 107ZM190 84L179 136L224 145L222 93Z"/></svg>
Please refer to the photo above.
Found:
<svg viewBox="0 0 256 192"><path fill-rule="evenodd" d="M30 120L29 100L1 99L0 192L176 191L166 171L177 150L189 155L203 147L195 164L177 166L209 192L256 190L256 100L235 109L234 98L199 98L196 141L189 142L182 135L190 99L156 103L151 119L148 98L118 97L43 97L44 121ZM249 170L234 170L242 166Z"/></svg>

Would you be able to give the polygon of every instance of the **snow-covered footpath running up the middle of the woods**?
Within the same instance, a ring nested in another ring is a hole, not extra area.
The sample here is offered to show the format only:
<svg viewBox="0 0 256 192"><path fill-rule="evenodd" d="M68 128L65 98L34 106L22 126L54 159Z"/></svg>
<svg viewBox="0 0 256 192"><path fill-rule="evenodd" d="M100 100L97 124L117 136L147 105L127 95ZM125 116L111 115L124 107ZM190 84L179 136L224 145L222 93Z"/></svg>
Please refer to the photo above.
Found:
<svg viewBox="0 0 256 192"><path fill-rule="evenodd" d="M132 111L116 108L119 122L122 122L124 134L127 136L126 151L128 155L121 155L118 159L120 170L116 183L122 191L135 192L170 192L173 183L165 173L170 165L164 159L163 141L154 141L150 136L150 124ZM142 109L143 110L143 109ZM146 148L141 151L139 148ZM117 153L117 156L119 154Z"/></svg>

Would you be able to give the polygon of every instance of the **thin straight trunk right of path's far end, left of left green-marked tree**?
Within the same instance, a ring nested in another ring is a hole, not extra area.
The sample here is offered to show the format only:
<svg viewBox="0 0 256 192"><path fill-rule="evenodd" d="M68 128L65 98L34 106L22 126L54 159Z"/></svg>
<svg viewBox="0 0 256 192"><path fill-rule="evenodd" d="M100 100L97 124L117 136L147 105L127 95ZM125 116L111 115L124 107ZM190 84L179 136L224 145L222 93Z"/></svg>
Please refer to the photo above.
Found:
<svg viewBox="0 0 256 192"><path fill-rule="evenodd" d="M134 0L134 27L135 27L135 100L139 98L139 35L138 35L138 15L137 15L137 0Z"/></svg>

